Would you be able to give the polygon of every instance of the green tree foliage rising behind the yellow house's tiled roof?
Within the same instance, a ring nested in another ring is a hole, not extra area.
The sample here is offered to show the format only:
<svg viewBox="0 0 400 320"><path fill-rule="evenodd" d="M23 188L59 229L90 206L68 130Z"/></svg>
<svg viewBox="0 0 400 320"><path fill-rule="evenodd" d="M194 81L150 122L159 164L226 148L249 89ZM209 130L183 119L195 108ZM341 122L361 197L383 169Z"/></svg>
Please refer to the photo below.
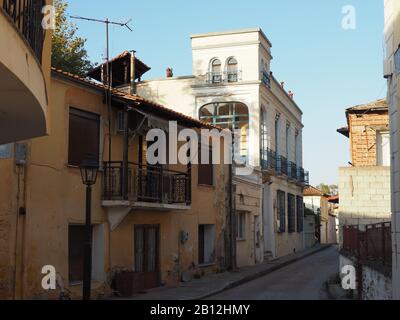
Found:
<svg viewBox="0 0 400 320"><path fill-rule="evenodd" d="M56 29L52 39L52 66L83 76L93 68L85 49L86 39L77 36L77 26L68 20L66 1L55 0L54 6Z"/></svg>

